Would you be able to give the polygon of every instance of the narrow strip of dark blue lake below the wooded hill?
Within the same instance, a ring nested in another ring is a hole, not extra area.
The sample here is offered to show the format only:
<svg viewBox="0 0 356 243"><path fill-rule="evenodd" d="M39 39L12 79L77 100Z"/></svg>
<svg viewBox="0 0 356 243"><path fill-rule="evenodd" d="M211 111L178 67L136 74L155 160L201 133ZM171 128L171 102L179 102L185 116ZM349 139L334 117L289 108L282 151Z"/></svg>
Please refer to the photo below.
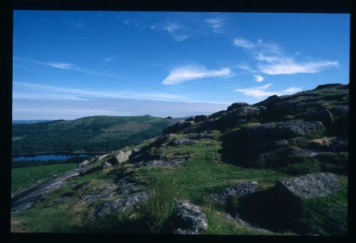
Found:
<svg viewBox="0 0 356 243"><path fill-rule="evenodd" d="M68 160L72 157L92 157L95 155L103 155L104 153L48 153L48 154L28 154L28 155L12 155L14 161L23 160Z"/></svg>

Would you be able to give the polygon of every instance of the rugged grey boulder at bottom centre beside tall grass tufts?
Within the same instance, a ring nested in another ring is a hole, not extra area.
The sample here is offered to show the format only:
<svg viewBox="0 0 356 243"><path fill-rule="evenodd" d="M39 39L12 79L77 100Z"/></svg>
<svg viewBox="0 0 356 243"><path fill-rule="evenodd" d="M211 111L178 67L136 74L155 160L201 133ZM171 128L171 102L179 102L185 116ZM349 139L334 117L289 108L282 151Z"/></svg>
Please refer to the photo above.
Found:
<svg viewBox="0 0 356 243"><path fill-rule="evenodd" d="M206 215L200 207L192 205L184 200L176 201L176 209L173 215L175 234L199 234L208 228Z"/></svg>

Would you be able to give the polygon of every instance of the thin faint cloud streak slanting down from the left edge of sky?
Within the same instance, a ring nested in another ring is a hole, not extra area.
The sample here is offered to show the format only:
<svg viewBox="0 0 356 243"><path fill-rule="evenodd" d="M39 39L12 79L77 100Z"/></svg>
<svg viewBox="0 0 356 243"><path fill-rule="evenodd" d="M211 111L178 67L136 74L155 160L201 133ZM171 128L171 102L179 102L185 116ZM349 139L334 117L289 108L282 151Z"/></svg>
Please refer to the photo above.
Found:
<svg viewBox="0 0 356 243"><path fill-rule="evenodd" d="M99 71L93 71L89 70L86 68L80 68L79 66L73 64L73 63L59 63L59 62L43 62L43 61L35 61L35 60L29 60L29 59L24 59L24 58L16 58L14 57L14 60L19 60L19 61L25 61L28 63L35 63L43 66L49 66L52 68L58 68L58 69L66 69L70 71L77 71L80 73L88 73L88 74L95 74L99 76L110 76L110 77L116 77L116 78L122 78L122 76L118 76L117 74L113 73L108 73L108 72L99 72Z"/></svg>

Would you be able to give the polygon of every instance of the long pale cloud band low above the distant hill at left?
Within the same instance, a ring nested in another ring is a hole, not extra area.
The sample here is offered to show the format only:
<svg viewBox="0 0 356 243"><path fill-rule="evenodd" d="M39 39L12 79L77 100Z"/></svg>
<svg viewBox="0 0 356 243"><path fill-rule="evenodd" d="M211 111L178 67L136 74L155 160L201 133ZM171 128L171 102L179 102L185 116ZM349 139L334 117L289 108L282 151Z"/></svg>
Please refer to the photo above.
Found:
<svg viewBox="0 0 356 243"><path fill-rule="evenodd" d="M184 95L156 91L88 91L76 88L43 86L14 82L14 98L50 100L86 100L88 98L128 98L135 100L187 101Z"/></svg>

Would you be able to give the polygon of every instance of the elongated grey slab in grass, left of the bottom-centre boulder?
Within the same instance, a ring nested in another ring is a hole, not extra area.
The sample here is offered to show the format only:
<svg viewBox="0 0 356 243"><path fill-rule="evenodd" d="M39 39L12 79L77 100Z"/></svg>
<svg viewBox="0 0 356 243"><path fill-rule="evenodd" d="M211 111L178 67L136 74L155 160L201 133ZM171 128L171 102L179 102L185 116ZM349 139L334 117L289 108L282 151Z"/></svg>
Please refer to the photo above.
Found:
<svg viewBox="0 0 356 243"><path fill-rule="evenodd" d="M106 214L112 214L118 211L136 210L137 207L148 200L151 193L150 191L137 192L125 197L120 197L117 200L105 202L95 209L92 219L97 219L98 217L103 217Z"/></svg>

